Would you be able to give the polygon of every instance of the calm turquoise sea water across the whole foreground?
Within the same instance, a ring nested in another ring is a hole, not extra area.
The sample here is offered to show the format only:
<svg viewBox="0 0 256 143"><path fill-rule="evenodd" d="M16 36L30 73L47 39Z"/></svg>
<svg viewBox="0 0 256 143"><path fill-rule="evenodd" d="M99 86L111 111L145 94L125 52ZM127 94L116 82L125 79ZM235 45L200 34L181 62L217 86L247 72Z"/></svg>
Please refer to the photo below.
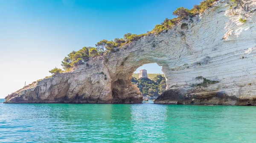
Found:
<svg viewBox="0 0 256 143"><path fill-rule="evenodd" d="M0 104L0 142L255 143L256 107Z"/></svg>

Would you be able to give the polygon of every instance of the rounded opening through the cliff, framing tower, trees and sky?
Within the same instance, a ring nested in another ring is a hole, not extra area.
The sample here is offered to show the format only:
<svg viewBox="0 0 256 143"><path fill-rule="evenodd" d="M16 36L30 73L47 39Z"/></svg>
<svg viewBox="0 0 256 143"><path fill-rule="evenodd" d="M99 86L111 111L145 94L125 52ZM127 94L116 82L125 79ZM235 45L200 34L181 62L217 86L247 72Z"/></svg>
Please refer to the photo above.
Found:
<svg viewBox="0 0 256 143"><path fill-rule="evenodd" d="M138 67L132 75L131 83L139 88L146 103L153 103L166 90L166 78L162 66L157 63Z"/></svg>

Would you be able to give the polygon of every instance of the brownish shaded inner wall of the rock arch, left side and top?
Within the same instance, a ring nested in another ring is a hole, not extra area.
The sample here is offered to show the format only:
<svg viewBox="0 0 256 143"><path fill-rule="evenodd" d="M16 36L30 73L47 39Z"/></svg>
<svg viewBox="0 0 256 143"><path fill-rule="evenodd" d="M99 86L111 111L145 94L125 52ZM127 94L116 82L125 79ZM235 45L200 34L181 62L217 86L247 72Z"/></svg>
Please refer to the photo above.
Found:
<svg viewBox="0 0 256 143"><path fill-rule="evenodd" d="M135 56L134 56L135 57ZM143 58L143 55L140 57L142 59L135 59L134 57L127 58L125 62L121 63L120 71L114 73L115 79L113 79L113 84L111 85L113 103L141 103L142 94L139 89L131 84L131 77L134 71L137 68L143 66L144 64L157 63L160 66L163 66L162 69L169 69L168 64L159 59L154 58ZM136 63L136 64L135 64ZM166 79L168 80L168 79Z"/></svg>

